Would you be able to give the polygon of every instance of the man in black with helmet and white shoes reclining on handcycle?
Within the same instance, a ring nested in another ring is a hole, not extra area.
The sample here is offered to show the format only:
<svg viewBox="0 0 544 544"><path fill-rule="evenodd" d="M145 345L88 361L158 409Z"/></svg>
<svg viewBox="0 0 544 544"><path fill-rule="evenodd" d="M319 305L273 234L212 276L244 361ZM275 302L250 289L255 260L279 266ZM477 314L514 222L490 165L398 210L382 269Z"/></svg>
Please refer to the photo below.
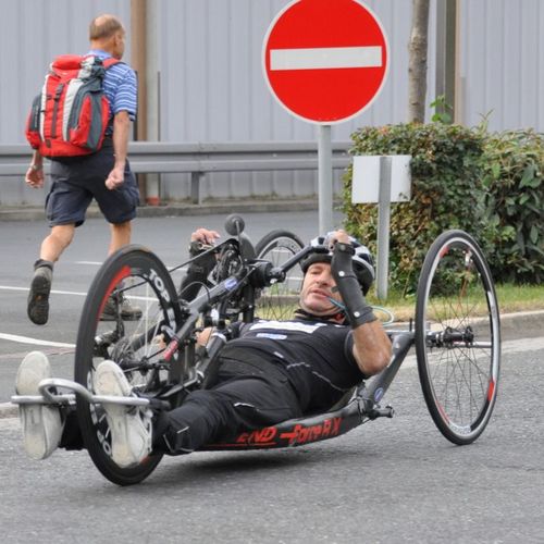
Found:
<svg viewBox="0 0 544 544"><path fill-rule="evenodd" d="M218 237L199 228L191 242L212 244ZM310 254L301 262L305 276L294 318L235 323L208 388L189 393L172 410L157 399L144 408L102 403L119 467L136 466L151 453L186 454L240 432L325 411L387 366L391 341L364 299L374 277L368 249L344 231L320 243L329 252ZM45 355L28 354L17 373L17 394L38 395L47 378ZM132 394L123 370L111 360L98 366L94 388L102 396ZM77 420L66 416L65 407L22 404L20 413L30 457L44 459L59 446L82 447L81 437L74 440Z"/></svg>

